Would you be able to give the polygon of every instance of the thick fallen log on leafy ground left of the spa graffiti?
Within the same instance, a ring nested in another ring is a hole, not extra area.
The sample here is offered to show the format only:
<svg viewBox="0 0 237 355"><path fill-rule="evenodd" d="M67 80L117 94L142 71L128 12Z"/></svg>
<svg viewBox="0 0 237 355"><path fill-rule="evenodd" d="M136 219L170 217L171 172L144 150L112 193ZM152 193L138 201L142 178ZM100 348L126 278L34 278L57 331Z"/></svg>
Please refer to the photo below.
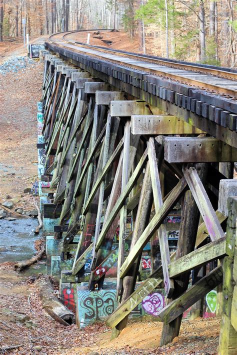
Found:
<svg viewBox="0 0 237 355"><path fill-rule="evenodd" d="M39 290L39 297L43 309L56 321L63 325L75 323L75 315L53 294L53 287L47 275L41 276L35 285Z"/></svg>

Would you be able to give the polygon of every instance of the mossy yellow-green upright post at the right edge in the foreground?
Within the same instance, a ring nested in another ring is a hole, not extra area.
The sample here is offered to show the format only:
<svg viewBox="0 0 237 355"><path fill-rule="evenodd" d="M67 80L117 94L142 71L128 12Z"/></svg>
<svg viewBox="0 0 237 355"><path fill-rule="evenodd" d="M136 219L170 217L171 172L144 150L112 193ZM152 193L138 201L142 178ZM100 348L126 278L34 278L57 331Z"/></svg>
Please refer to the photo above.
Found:
<svg viewBox="0 0 237 355"><path fill-rule="evenodd" d="M219 335L219 355L237 353L237 197L228 198L226 254L223 264L223 309Z"/></svg>

